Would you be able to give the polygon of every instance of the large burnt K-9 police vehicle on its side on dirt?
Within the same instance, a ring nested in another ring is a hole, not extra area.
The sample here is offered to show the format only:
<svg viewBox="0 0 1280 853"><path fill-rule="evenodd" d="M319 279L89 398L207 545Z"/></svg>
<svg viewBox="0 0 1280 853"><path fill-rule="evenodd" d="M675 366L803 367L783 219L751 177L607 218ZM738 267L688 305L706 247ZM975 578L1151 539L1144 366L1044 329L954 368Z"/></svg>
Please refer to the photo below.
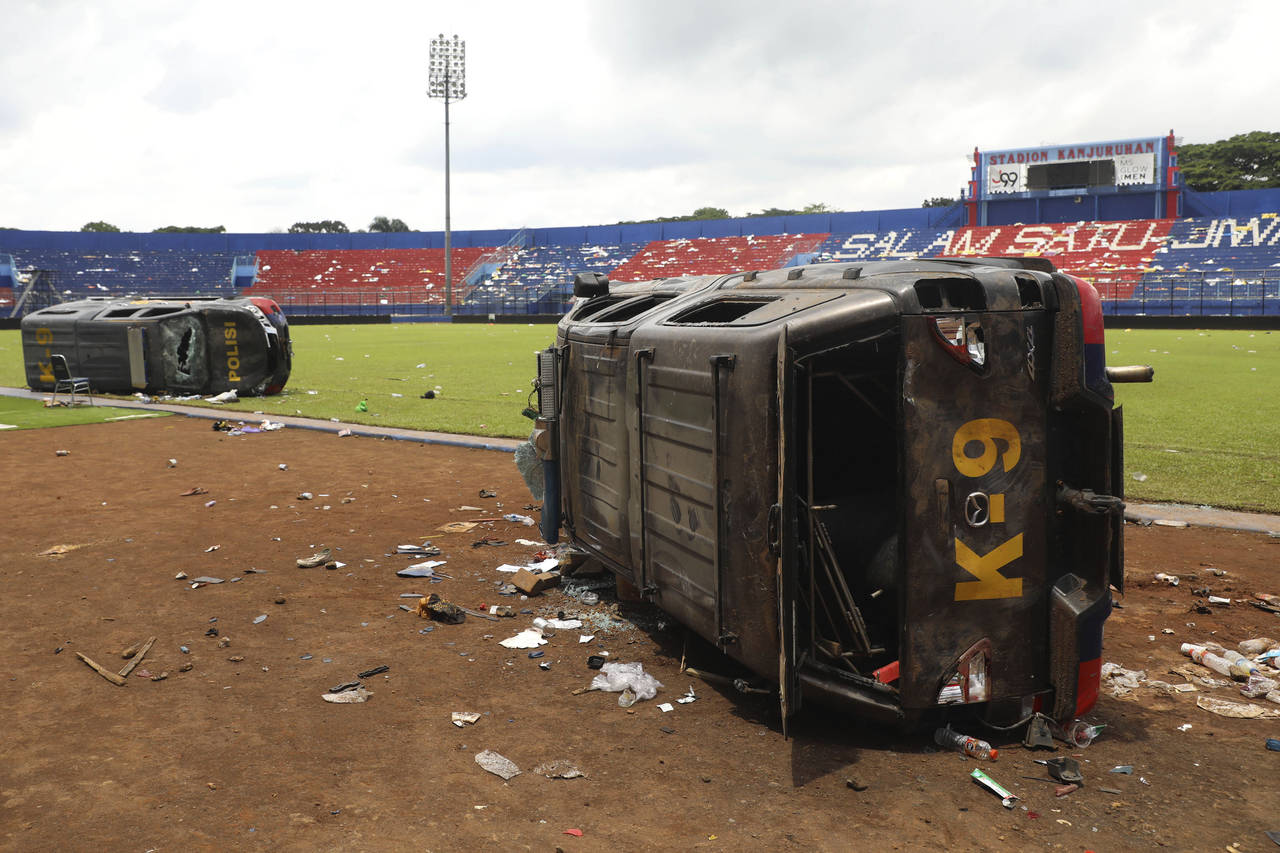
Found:
<svg viewBox="0 0 1280 853"><path fill-rule="evenodd" d="M1068 720L1121 588L1121 416L1041 259L611 284L539 353L543 533L755 672L915 725Z"/></svg>

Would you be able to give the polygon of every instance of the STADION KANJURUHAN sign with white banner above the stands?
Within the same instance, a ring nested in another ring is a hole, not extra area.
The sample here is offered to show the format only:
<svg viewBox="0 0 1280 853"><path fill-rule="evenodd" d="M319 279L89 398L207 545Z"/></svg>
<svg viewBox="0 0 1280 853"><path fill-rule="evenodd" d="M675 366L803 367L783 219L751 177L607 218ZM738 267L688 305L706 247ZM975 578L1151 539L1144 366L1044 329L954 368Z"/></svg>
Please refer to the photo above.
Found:
<svg viewBox="0 0 1280 853"><path fill-rule="evenodd" d="M1091 160L1114 161L1117 187L1153 184L1158 181L1164 152L1164 137L983 151L978 155L983 173L979 186L988 196L1027 192L1027 173L1032 167Z"/></svg>

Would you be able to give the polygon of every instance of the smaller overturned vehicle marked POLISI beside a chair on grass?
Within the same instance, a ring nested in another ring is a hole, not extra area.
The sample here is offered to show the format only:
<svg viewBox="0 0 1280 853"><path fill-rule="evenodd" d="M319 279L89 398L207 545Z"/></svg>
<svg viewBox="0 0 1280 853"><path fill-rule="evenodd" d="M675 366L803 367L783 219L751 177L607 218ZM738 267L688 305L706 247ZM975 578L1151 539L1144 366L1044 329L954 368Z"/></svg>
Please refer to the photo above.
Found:
<svg viewBox="0 0 1280 853"><path fill-rule="evenodd" d="M54 356L93 391L241 396L289 379L289 324L264 297L87 298L22 319L27 384L55 387Z"/></svg>

